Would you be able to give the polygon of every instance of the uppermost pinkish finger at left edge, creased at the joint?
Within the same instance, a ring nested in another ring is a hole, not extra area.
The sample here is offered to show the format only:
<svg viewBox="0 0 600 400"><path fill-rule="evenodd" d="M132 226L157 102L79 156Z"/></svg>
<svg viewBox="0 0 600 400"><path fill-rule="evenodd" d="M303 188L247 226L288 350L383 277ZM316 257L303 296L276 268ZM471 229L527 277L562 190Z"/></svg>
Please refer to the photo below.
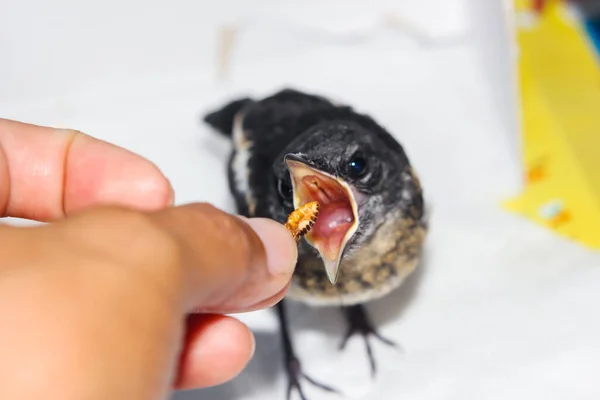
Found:
<svg viewBox="0 0 600 400"><path fill-rule="evenodd" d="M150 161L74 130L0 118L0 216L47 222L94 204L155 210L173 199Z"/></svg>

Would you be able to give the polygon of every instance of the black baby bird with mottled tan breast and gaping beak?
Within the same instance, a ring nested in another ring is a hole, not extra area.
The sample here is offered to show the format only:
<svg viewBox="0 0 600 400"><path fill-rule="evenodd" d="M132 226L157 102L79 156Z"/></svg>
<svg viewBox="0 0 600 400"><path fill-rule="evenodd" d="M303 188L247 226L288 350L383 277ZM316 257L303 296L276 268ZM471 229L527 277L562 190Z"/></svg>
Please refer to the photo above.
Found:
<svg viewBox="0 0 600 400"><path fill-rule="evenodd" d="M402 146L367 115L325 97L284 89L262 100L240 98L204 116L233 141L227 164L238 213L284 224L307 203L318 218L298 243L298 263L286 299L341 307L348 330L388 345L364 304L401 286L417 267L427 234L417 174ZM302 371L288 329L285 301L277 304L288 377L287 398L301 378L337 390Z"/></svg>

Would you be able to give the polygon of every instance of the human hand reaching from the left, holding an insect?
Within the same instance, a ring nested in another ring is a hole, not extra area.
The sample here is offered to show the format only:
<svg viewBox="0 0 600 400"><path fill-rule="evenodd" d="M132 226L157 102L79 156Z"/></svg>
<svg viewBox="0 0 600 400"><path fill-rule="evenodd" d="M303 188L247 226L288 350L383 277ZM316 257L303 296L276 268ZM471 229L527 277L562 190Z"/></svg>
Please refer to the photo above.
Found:
<svg viewBox="0 0 600 400"><path fill-rule="evenodd" d="M0 398L166 399L221 384L254 339L223 314L269 307L297 250L266 219L174 207L149 161L0 119Z"/></svg>

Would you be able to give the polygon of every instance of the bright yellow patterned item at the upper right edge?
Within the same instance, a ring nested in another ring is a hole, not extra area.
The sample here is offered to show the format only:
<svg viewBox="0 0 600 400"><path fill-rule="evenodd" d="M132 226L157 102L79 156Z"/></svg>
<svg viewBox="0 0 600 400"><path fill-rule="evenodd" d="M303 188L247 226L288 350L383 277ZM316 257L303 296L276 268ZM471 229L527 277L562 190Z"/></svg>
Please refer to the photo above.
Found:
<svg viewBox="0 0 600 400"><path fill-rule="evenodd" d="M528 1L516 1L518 13ZM506 202L560 235L600 250L600 68L583 27L563 2L517 26L521 196Z"/></svg>

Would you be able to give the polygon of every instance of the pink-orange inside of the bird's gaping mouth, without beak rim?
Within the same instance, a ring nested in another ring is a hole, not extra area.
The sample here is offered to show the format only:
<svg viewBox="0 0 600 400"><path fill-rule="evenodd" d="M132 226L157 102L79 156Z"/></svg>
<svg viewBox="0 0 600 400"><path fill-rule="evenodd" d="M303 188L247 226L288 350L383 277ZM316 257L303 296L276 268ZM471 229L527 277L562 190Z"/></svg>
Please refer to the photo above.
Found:
<svg viewBox="0 0 600 400"><path fill-rule="evenodd" d="M296 177L295 186L302 204L319 202L319 217L306 239L331 261L337 260L356 220L348 190L335 179L315 171Z"/></svg>

